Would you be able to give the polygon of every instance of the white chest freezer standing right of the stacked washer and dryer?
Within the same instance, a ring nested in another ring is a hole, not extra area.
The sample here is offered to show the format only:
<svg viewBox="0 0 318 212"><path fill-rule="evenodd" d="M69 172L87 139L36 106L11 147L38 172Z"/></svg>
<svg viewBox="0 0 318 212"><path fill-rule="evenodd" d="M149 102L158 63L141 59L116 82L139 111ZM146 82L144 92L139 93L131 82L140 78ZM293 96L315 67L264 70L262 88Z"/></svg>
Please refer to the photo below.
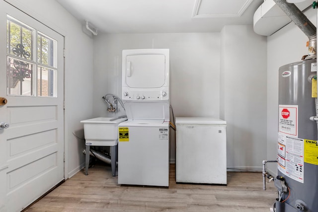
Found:
<svg viewBox="0 0 318 212"><path fill-rule="evenodd" d="M176 117L176 182L227 184L226 121Z"/></svg>

